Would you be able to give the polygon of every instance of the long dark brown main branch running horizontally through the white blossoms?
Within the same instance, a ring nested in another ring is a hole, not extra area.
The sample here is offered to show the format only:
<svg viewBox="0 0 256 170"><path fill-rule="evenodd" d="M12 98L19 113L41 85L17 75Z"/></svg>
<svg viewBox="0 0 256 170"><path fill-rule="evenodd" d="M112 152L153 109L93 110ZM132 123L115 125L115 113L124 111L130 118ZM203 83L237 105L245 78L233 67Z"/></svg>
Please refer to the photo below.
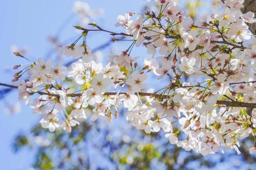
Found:
<svg viewBox="0 0 256 170"><path fill-rule="evenodd" d="M240 82L240 83L247 83L247 82ZM8 84L4 84L4 83L0 83L1 86L5 86L5 87L9 87L9 88L18 88L18 86L15 85L8 85ZM48 92L42 92L42 91L38 91L36 92L38 94L41 95L49 95L49 96L55 96L55 97L59 97L58 94L51 94ZM116 94L127 94L126 92L106 92L105 96L112 96L112 95L116 95ZM145 93L145 92L139 92L138 93L140 96L154 96L154 97L158 97L160 96L160 94L152 94L152 93ZM67 96L70 97L77 97L77 96L81 96L82 94L67 94ZM164 95L163 98L167 98L168 95ZM241 108L256 108L256 103L246 103L246 102L237 102L237 101L225 101L225 100L217 100L216 104L218 105L225 105L225 106L229 106L229 107L241 107Z"/></svg>

